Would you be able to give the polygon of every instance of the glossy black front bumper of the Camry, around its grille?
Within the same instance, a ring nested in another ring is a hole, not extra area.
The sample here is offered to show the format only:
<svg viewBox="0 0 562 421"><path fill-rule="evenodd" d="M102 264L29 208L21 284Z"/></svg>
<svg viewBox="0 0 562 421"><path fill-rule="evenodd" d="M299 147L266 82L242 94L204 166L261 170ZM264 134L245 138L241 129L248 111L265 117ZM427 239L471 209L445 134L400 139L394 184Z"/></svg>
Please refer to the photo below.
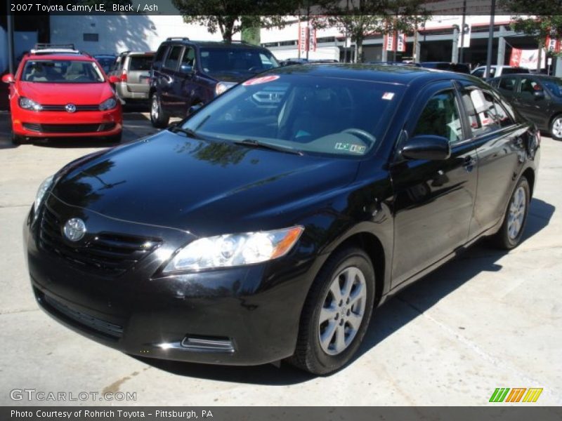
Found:
<svg viewBox="0 0 562 421"><path fill-rule="evenodd" d="M164 239L124 274L107 276L41 246L41 216L34 222L30 213L24 240L34 294L66 326L127 354L157 359L256 365L293 354L317 270L313 260L288 256L268 265L155 276L190 234L112 220L52 195L46 206L60 220L82 218L92 235L142 229L143 236Z"/></svg>

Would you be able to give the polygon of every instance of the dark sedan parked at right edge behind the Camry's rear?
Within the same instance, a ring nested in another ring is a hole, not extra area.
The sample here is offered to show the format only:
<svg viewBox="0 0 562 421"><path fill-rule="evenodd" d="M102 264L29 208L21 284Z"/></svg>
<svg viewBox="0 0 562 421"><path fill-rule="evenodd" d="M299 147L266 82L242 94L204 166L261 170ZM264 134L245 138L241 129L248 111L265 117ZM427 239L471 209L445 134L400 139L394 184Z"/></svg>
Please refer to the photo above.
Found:
<svg viewBox="0 0 562 421"><path fill-rule="evenodd" d="M562 140L562 79L542 74L509 74L492 79L490 84L540 130Z"/></svg>

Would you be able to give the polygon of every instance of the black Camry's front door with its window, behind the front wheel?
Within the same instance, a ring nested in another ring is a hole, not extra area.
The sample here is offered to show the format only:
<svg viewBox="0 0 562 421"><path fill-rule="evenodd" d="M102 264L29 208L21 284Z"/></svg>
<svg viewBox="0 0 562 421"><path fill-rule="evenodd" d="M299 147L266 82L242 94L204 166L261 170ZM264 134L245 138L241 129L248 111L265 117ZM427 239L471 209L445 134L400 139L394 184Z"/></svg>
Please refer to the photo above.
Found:
<svg viewBox="0 0 562 421"><path fill-rule="evenodd" d="M478 158L466 139L459 95L452 82L422 91L405 131L447 138L443 161L405 160L391 166L394 189L393 286L445 257L468 239L476 197ZM406 140L407 142L407 140Z"/></svg>

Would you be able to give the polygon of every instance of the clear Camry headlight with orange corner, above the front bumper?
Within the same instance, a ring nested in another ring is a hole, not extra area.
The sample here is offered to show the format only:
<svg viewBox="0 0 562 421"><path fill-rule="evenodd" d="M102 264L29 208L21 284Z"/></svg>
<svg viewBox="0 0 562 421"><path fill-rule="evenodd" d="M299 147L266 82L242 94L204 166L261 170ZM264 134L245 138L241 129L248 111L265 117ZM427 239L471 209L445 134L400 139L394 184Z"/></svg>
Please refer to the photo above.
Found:
<svg viewBox="0 0 562 421"><path fill-rule="evenodd" d="M303 230L290 227L197 239L179 250L164 273L251 265L280 258L289 253Z"/></svg>

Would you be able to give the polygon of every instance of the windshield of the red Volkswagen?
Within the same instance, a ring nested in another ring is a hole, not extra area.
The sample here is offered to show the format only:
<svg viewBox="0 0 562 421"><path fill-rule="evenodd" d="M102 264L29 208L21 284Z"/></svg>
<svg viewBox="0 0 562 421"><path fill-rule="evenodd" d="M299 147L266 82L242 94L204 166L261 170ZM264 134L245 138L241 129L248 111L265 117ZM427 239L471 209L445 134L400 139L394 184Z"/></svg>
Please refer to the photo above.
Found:
<svg viewBox="0 0 562 421"><path fill-rule="evenodd" d="M95 62L80 60L28 60L21 80L35 83L101 83L103 73Z"/></svg>

